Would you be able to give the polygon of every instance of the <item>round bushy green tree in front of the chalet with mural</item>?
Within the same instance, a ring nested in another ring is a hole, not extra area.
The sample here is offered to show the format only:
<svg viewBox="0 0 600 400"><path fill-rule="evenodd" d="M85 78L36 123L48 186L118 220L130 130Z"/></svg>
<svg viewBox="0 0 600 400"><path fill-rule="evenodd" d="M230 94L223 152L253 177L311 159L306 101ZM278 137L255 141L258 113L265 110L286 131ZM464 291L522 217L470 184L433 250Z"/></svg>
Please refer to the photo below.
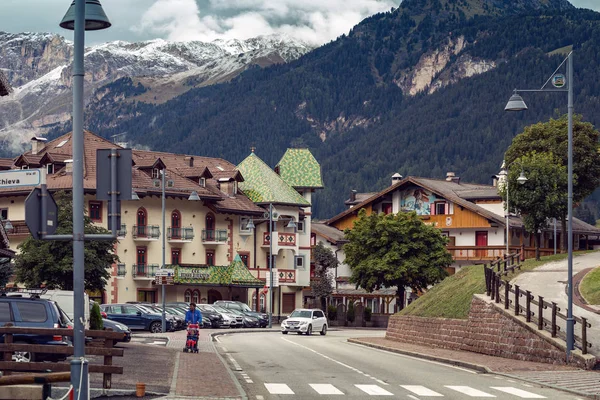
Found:
<svg viewBox="0 0 600 400"><path fill-rule="evenodd" d="M414 212L367 215L363 209L358 215L354 228L345 231L344 245L357 288L372 292L396 286L402 307L405 287L424 290L446 277L452 256L439 229Z"/></svg>

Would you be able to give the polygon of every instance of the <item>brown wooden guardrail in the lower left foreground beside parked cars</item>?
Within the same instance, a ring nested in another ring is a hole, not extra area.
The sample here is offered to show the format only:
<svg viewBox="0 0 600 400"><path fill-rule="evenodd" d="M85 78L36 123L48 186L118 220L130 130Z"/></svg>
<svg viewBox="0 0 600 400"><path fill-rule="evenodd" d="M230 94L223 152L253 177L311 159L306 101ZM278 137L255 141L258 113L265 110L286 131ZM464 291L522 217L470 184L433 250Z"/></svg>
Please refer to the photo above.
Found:
<svg viewBox="0 0 600 400"><path fill-rule="evenodd" d="M0 378L0 385L9 385L11 380L4 379L11 375L12 372L68 372L71 370L71 364L68 361L64 362L17 362L12 361L12 356L15 351L23 351L30 353L43 354L63 354L66 356L73 355L73 346L61 345L46 345L46 344L29 344L29 343L13 343L13 335L44 335L44 336L69 336L73 337L72 329L48 329L48 328L20 328L20 327L1 327L0 335L4 335L4 343L0 343L0 353L3 354L3 361L0 361L0 370L3 372ZM102 387L110 389L112 374L123 374L123 367L112 365L113 357L122 357L123 349L114 348L115 340L121 339L123 335L112 331L85 331L86 337L103 339L102 346L86 346L86 355L104 356L103 364L90 364L90 373L103 374ZM3 380L4 379L4 380Z"/></svg>

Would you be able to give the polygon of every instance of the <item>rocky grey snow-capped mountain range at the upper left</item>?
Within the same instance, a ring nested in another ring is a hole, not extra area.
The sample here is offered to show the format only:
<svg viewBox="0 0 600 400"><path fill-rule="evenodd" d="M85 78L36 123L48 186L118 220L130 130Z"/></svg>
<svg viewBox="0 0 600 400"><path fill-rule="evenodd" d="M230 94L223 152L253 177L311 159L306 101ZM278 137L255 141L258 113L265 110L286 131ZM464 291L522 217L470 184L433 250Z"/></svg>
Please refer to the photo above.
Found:
<svg viewBox="0 0 600 400"><path fill-rule="evenodd" d="M285 63L310 50L282 35L210 43L104 43L86 49L86 101L106 95L96 89L130 77L152 92L136 100L163 102L193 87L230 80L251 65ZM0 99L0 141L19 150L31 136L70 118L72 57L73 44L60 35L0 32L0 70L14 88Z"/></svg>

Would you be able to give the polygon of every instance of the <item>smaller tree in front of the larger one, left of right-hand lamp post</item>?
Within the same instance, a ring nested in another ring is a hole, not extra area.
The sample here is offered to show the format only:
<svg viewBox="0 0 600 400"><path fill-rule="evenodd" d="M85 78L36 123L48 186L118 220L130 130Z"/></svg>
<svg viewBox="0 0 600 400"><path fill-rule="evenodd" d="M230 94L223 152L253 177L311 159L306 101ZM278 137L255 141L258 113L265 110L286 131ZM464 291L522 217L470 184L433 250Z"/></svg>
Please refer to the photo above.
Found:
<svg viewBox="0 0 600 400"><path fill-rule="evenodd" d="M552 153L530 153L513 162L509 168L509 206L518 210L525 229L535 239L535 258L540 259L540 232L548 226L550 218L560 218L567 208L567 169ZM520 168L519 168L520 167ZM527 178L518 184L523 172ZM506 199L506 190L501 189Z"/></svg>

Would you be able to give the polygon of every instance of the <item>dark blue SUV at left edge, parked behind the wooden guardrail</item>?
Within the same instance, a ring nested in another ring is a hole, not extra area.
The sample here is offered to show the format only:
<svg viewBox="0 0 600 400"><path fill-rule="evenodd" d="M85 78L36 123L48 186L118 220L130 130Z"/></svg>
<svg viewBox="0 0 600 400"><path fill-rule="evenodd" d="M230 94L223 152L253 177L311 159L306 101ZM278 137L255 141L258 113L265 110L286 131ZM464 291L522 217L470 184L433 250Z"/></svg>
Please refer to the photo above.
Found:
<svg viewBox="0 0 600 400"><path fill-rule="evenodd" d="M22 295L6 293L0 295L0 326L11 323L17 327L27 328L72 328L64 311L52 300L40 299L37 295ZM4 342L4 335L0 337ZM72 342L66 336L52 335L13 335L14 343L46 344L71 346ZM18 351L13 354L13 361L63 361L63 354L30 353Z"/></svg>

